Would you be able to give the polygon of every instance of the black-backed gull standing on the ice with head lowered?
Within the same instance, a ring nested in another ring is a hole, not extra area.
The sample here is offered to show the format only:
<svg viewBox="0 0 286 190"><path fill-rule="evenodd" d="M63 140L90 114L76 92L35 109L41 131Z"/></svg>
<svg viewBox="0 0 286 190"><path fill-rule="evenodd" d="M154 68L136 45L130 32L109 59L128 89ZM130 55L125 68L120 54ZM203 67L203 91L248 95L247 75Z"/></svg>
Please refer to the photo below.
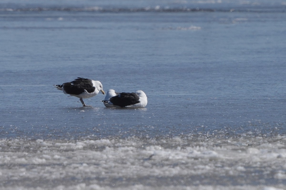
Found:
<svg viewBox="0 0 286 190"><path fill-rule="evenodd" d="M94 81L81 77L78 77L72 82L66 82L62 85L55 86L57 89L62 90L65 94L80 98L80 101L84 107L86 107L87 105L82 100L83 98L93 97L97 95L99 91L105 94L100 81Z"/></svg>

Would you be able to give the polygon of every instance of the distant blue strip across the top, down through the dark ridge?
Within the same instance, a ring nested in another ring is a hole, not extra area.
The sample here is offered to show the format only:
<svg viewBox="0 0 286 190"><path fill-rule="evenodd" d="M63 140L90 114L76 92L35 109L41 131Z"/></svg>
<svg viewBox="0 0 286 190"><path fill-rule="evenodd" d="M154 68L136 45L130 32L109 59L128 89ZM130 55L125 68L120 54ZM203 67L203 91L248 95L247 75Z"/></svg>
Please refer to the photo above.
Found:
<svg viewBox="0 0 286 190"><path fill-rule="evenodd" d="M284 0L166 0L166 1L35 1L1 2L0 11L97 11L97 12L284 12Z"/></svg>

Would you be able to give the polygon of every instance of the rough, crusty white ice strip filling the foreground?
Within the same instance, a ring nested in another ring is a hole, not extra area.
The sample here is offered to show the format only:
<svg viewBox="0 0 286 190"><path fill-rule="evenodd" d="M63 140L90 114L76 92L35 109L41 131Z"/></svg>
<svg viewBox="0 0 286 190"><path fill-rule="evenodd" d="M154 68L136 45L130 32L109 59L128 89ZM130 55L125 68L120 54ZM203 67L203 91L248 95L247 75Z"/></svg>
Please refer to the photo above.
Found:
<svg viewBox="0 0 286 190"><path fill-rule="evenodd" d="M0 189L286 189L286 136L0 140Z"/></svg>

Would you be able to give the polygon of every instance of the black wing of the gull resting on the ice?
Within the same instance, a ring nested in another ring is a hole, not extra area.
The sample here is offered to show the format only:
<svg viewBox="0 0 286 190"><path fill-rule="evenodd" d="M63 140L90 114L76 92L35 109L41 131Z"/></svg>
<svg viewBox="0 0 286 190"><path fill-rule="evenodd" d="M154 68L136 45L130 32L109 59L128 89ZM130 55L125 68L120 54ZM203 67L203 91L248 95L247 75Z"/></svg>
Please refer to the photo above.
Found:
<svg viewBox="0 0 286 190"><path fill-rule="evenodd" d="M117 105L120 107L125 107L133 104L139 103L139 96L132 92L132 93L127 93L127 92L122 92L117 96L111 97L110 102L113 105Z"/></svg>

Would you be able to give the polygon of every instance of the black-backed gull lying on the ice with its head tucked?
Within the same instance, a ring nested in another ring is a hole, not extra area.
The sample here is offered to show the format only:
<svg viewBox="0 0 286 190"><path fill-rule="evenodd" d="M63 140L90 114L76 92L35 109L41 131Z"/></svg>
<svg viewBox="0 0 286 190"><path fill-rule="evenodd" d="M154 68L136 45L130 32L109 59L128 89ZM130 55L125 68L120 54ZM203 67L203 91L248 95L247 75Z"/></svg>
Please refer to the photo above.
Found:
<svg viewBox="0 0 286 190"><path fill-rule="evenodd" d="M107 91L106 97L102 102L106 107L144 108L147 105L147 96L142 90L132 93L116 93L111 89Z"/></svg>

